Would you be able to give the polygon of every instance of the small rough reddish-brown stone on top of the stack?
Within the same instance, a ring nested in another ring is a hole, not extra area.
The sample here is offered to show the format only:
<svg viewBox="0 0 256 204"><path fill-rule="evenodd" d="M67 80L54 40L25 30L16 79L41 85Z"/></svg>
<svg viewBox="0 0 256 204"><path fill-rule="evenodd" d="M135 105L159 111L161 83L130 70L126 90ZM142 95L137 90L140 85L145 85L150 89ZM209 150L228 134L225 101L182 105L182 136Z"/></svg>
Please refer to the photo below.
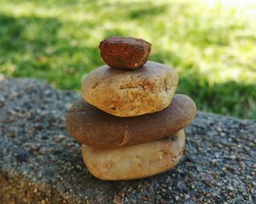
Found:
<svg viewBox="0 0 256 204"><path fill-rule="evenodd" d="M99 50L108 66L135 69L148 60L151 44L143 39L115 36L100 42Z"/></svg>

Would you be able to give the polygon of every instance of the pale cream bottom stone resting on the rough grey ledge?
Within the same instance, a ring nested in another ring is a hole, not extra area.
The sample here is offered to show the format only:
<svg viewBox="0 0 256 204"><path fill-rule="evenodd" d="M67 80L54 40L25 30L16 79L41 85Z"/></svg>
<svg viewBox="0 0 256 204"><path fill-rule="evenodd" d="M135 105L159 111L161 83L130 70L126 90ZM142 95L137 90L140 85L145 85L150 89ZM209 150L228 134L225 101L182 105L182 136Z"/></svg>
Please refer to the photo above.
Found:
<svg viewBox="0 0 256 204"><path fill-rule="evenodd" d="M82 145L86 167L102 180L129 180L162 173L176 166L185 146L184 130L168 138L118 149Z"/></svg>

